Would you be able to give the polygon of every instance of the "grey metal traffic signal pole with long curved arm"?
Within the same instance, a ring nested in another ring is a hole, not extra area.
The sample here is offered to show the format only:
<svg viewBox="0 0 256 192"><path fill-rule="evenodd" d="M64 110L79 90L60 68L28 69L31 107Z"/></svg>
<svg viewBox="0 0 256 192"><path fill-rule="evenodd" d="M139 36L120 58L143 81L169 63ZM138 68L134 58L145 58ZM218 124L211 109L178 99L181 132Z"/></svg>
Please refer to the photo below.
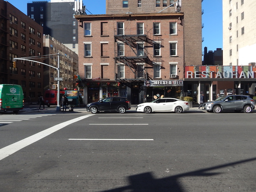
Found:
<svg viewBox="0 0 256 192"><path fill-rule="evenodd" d="M46 63L42 63L42 62L39 62L39 61L34 61L34 60L31 60L31 59L27 59L28 57L13 58L13 62L15 62L15 63L13 63L13 65L15 65L15 67L16 67L16 60L23 60L23 61L31 61L31 62L35 62L35 63L40 63L40 64L47 65L48 67L52 67L52 68L56 69L57 72L58 72L58 77L57 77L57 81L58 81L57 97L58 98L57 98L57 108L56 108L56 111L61 111L61 108L60 108L60 86L59 86L60 82L59 81L62 78L60 78L60 60L59 60L60 54L59 53L56 53L56 54L58 56L58 61L57 61L58 62L58 67L53 67L53 66L51 66L49 64L46 64ZM53 55L56 55L56 54L53 54ZM46 56L46 55L41 55L41 56Z"/></svg>

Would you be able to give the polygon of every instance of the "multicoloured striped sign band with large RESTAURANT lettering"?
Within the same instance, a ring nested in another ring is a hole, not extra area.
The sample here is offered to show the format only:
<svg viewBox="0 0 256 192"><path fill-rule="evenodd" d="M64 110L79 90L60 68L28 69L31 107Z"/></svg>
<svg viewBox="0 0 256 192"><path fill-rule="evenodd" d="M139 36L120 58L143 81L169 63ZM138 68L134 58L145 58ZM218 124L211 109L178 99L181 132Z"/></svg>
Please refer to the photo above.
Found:
<svg viewBox="0 0 256 192"><path fill-rule="evenodd" d="M185 79L252 79L256 78L254 66L186 66Z"/></svg>

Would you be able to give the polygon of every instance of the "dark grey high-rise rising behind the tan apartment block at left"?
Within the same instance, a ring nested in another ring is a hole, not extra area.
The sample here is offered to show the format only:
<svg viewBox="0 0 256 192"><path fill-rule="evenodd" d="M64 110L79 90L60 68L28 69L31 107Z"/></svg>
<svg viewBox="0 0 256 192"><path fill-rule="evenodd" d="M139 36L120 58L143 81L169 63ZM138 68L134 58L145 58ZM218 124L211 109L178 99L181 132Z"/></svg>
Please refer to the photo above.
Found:
<svg viewBox="0 0 256 192"><path fill-rule="evenodd" d="M76 0L33 1L27 15L50 35L78 54L78 25L74 17Z"/></svg>

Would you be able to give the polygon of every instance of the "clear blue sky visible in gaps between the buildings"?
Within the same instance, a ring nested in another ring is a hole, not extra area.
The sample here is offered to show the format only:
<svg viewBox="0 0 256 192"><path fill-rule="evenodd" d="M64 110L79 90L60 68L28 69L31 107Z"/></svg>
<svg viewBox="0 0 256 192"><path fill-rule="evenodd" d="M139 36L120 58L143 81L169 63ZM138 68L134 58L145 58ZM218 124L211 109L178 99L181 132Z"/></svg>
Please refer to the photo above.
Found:
<svg viewBox="0 0 256 192"><path fill-rule="evenodd" d="M31 1L24 0L7 0L17 9L27 14L27 3ZM105 14L106 13L106 1L97 0L97 5L93 0L84 0L84 5L87 14ZM204 28L202 29L202 37L204 42L202 43L202 51L204 47L209 50L216 50L222 47L222 0L204 0L202 2L202 9L204 9L204 14L202 15L202 23L204 23ZM182 7L181 7L182 11Z"/></svg>

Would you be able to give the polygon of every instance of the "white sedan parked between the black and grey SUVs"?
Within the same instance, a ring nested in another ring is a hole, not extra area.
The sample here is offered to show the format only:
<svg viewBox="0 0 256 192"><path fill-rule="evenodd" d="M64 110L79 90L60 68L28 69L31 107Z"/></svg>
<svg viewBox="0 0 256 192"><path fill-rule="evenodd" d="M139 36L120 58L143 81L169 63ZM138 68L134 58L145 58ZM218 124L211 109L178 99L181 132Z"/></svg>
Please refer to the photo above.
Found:
<svg viewBox="0 0 256 192"><path fill-rule="evenodd" d="M175 98L161 98L137 105L137 112L172 112L182 113L189 110L189 102Z"/></svg>

